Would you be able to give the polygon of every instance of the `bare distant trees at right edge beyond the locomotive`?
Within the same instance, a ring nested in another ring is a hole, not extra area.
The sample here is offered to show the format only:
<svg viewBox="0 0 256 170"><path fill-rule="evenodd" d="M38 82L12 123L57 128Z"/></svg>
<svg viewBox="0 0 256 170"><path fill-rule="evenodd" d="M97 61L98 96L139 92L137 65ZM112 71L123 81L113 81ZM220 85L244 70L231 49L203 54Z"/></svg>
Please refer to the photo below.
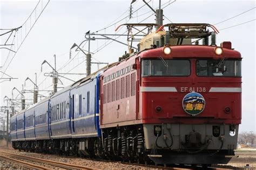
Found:
<svg viewBox="0 0 256 170"><path fill-rule="evenodd" d="M244 145L254 145L256 143L256 133L241 132L238 134L238 143Z"/></svg>

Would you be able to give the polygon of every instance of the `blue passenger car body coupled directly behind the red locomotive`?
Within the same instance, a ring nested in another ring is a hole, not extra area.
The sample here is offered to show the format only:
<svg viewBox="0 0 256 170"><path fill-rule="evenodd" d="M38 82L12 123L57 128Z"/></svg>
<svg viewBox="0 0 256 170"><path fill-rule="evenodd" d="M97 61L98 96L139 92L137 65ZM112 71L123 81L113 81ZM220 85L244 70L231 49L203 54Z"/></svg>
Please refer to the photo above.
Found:
<svg viewBox="0 0 256 170"><path fill-rule="evenodd" d="M97 75L97 74L96 74ZM77 81L70 90L72 138L98 137L98 75Z"/></svg>

